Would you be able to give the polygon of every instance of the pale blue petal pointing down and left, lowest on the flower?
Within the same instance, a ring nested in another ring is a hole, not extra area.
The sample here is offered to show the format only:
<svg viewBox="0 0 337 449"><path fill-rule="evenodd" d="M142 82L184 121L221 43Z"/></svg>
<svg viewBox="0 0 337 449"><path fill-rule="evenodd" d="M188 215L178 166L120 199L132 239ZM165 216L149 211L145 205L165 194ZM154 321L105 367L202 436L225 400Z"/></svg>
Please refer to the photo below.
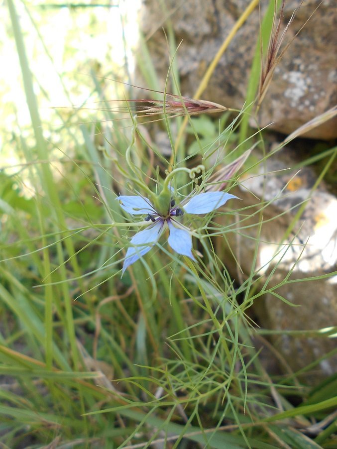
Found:
<svg viewBox="0 0 337 449"><path fill-rule="evenodd" d="M153 224L150 227L147 227L142 231L137 232L131 238L130 243L133 246L129 246L127 248L123 264L122 275L124 274L124 271L129 265L134 263L136 260L138 260L141 256L146 254L152 248L152 246L156 243L162 232L163 224L164 222L161 219L159 219L156 221L155 224Z"/></svg>

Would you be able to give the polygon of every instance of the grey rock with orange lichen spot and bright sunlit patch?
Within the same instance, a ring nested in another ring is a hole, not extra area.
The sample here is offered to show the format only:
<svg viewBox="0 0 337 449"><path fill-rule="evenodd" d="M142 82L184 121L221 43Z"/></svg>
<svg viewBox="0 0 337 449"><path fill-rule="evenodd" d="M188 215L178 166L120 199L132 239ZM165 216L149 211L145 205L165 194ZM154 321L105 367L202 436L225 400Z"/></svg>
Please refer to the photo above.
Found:
<svg viewBox="0 0 337 449"><path fill-rule="evenodd" d="M316 181L313 170L288 169L294 161L291 163L282 151L283 160L274 156L260 165L257 174L240 180L243 191L238 196L247 204L256 204L256 197L270 203L263 211L265 241L259 247L256 269L267 272L277 262L283 270L293 269L296 263L294 272L308 276L333 271L337 263L337 199L324 187L312 193ZM303 204L300 220L280 245ZM258 220L258 216L249 219L252 224ZM248 233L254 233L254 227ZM252 246L255 248L255 241Z"/></svg>

